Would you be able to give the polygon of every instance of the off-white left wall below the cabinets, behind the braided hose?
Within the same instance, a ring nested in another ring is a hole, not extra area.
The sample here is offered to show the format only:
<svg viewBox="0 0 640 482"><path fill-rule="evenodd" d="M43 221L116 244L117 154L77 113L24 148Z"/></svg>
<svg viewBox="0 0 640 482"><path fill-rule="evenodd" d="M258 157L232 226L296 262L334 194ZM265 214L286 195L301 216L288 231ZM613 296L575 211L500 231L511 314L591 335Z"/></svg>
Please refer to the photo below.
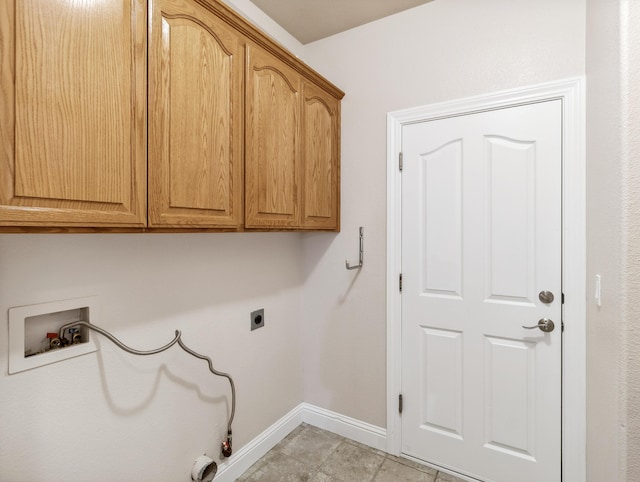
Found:
<svg viewBox="0 0 640 482"><path fill-rule="evenodd" d="M302 401L300 260L296 233L0 235L2 339L10 307L89 295L134 348L180 329L235 379L237 450ZM266 324L250 332L257 308ZM97 339L14 375L0 343L0 480L188 481L198 455L217 457L226 380L179 347L136 357Z"/></svg>

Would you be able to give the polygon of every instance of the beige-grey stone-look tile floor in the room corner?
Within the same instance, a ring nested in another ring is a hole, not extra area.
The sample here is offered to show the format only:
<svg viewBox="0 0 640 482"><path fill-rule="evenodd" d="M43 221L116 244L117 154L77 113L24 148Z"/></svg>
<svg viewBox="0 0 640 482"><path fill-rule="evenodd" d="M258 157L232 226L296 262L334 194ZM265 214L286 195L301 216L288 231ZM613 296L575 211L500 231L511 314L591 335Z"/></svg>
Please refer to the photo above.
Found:
<svg viewBox="0 0 640 482"><path fill-rule="evenodd" d="M236 482L464 482L302 424Z"/></svg>

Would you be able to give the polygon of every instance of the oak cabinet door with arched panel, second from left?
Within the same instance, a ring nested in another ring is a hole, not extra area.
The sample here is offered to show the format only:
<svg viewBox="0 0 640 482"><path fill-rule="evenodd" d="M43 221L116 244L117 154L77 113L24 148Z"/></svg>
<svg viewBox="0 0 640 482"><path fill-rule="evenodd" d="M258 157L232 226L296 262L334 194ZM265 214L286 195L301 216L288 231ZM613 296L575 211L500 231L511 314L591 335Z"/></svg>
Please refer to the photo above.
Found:
<svg viewBox="0 0 640 482"><path fill-rule="evenodd" d="M242 42L194 0L153 2L149 225L237 227Z"/></svg>

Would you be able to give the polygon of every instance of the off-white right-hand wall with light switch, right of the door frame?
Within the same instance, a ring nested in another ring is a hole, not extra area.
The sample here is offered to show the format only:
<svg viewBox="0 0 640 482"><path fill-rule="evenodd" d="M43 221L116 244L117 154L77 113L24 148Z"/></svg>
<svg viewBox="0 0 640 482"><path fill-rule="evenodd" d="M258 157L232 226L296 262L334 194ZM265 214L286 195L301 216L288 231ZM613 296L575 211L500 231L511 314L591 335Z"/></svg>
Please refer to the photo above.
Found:
<svg viewBox="0 0 640 482"><path fill-rule="evenodd" d="M589 480L640 480L640 3L587 1Z"/></svg>

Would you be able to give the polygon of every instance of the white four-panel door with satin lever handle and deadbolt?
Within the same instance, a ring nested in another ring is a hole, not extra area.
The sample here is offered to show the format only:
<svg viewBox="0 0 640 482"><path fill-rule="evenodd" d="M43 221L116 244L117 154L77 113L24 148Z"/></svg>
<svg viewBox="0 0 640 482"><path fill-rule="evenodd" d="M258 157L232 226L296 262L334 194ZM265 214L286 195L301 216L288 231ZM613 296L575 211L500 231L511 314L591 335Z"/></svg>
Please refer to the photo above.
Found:
<svg viewBox="0 0 640 482"><path fill-rule="evenodd" d="M483 481L561 478L561 115L402 129L402 452Z"/></svg>

